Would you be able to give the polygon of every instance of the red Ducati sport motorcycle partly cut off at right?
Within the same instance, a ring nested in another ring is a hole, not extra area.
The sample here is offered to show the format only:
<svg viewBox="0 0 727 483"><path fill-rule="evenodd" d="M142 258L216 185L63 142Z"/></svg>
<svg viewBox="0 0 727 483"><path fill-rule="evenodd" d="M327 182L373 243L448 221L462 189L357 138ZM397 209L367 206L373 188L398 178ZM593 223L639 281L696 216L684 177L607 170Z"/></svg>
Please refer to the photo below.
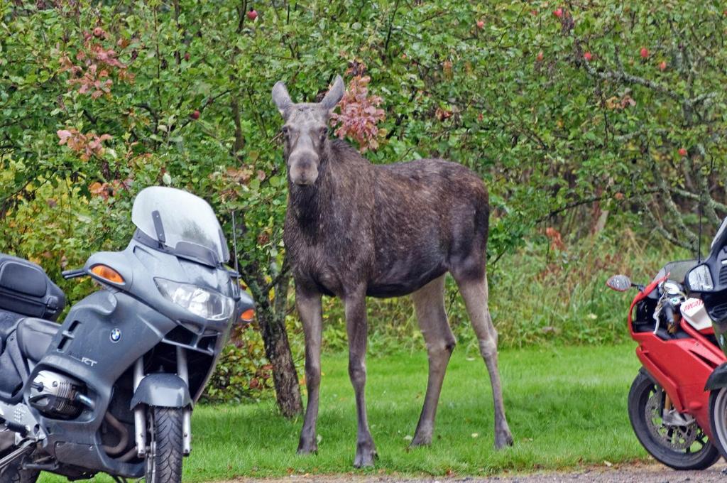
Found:
<svg viewBox="0 0 727 483"><path fill-rule="evenodd" d="M629 391L631 426L646 451L678 470L709 468L720 458L710 442L710 392L705 384L727 358L704 303L686 296L684 278L697 264L667 263L646 286L633 284L625 275L606 282L619 292L638 289L628 324L643 367Z"/></svg>

